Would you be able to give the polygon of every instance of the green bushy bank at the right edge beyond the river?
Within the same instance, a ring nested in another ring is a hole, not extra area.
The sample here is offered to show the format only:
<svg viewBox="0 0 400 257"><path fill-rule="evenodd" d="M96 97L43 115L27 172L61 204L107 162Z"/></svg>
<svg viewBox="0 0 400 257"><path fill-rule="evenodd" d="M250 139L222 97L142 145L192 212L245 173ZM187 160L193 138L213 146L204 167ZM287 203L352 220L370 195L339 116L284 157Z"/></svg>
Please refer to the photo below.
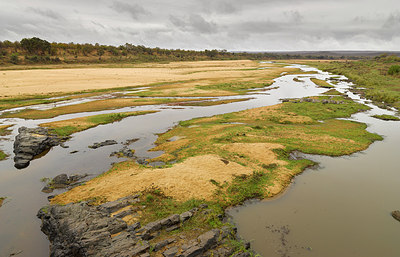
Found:
<svg viewBox="0 0 400 257"><path fill-rule="evenodd" d="M324 71L345 75L366 98L378 105L400 108L400 57L381 55L373 60L351 62L313 62ZM365 89L362 89L365 88Z"/></svg>

